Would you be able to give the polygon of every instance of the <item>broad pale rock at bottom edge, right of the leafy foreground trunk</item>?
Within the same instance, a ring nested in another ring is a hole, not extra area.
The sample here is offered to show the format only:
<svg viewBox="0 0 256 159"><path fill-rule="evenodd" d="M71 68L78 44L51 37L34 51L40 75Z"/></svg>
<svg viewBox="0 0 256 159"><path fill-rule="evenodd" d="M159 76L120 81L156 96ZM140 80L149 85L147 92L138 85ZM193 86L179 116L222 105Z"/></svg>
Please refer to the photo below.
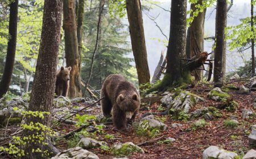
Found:
<svg viewBox="0 0 256 159"><path fill-rule="evenodd" d="M70 148L58 153L52 159L99 159L98 156L92 152L82 149L81 147Z"/></svg>

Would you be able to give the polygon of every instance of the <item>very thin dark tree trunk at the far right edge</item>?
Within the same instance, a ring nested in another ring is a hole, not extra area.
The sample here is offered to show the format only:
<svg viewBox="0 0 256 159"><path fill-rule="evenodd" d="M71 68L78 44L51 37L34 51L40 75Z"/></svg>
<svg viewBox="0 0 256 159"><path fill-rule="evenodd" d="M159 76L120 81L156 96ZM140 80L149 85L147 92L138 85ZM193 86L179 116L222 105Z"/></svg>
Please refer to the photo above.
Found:
<svg viewBox="0 0 256 159"><path fill-rule="evenodd" d="M251 38L251 74L255 75L255 57L254 57L254 23L253 23L253 0L251 0L251 32L253 33L253 38Z"/></svg>

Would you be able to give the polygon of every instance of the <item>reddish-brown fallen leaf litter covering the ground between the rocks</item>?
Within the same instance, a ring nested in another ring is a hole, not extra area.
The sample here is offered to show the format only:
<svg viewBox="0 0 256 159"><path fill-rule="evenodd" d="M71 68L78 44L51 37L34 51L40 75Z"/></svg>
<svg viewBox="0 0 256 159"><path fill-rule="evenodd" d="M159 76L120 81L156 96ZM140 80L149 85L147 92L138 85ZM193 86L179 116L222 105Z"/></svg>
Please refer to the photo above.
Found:
<svg viewBox="0 0 256 159"><path fill-rule="evenodd" d="M244 83L240 81L233 84L239 86ZM193 108L189 110L189 113L199 108L217 106L221 104L221 102L216 102L207 98L209 90L209 87L203 84L197 85L196 87L189 89L189 91L191 91L192 93L205 98L205 101L201 101L197 103L195 106L193 106ZM158 135L155 135L153 137L148 137L147 135L138 135L134 127L130 127L127 132L114 130L112 123L105 124L106 126L102 129L101 132L92 134L91 137L99 141L106 141L106 143L109 144L109 147L111 147L111 145L113 145L116 142L125 143L129 141L133 142L134 144L141 144L145 141L149 141L148 143L140 146L145 153L128 154L126 157L130 159L202 158L203 151L210 145L216 145L220 148L223 148L228 151L234 151L238 154L246 153L250 149L256 149L255 145L250 146L248 143L250 126L256 124L256 117L254 116L253 118L242 119L242 109L250 109L254 113L256 112L256 109L253 108L253 103L256 98L256 92L251 92L250 94L239 94L236 90L230 90L229 94L233 97L234 101L238 102L238 108L235 111L228 111L226 109L219 110L220 113L222 114L222 117L215 117L212 120L207 121L205 127L197 128L196 130L192 128L192 123L203 117L188 119L188 121L179 121L171 119L168 115L159 115L156 118L167 124L168 129L166 131L160 132ZM86 106L85 104L78 103L75 105ZM139 111L136 121L139 120L141 115L147 112L159 113L159 106L160 100L156 100L154 101L154 103L147 105L147 108L149 110L145 108L144 110ZM102 114L101 109L98 106L91 106L88 109L92 110L89 113L88 111L81 111L80 115ZM237 118L239 124L237 127L234 128L226 128L224 121L230 118L231 115ZM181 123L182 126L172 128L173 123ZM77 127L73 124L61 123L60 126L54 127L54 129L59 132L63 132L63 134L67 134L68 132L76 130ZM7 131L9 130L10 128L7 128ZM110 139L107 139L106 135L111 135L112 137ZM158 140L155 140L159 138L166 139L167 137L173 137L174 139L176 139L176 141L174 141L173 143L164 144L159 143ZM57 140L55 141L54 145L60 151L63 151L65 149L75 147L77 141L79 140L76 139L76 136L72 136L69 137L69 139L67 140ZM94 148L90 149L89 151L97 154L99 158L112 159L116 157L111 152L104 151L101 148Z"/></svg>

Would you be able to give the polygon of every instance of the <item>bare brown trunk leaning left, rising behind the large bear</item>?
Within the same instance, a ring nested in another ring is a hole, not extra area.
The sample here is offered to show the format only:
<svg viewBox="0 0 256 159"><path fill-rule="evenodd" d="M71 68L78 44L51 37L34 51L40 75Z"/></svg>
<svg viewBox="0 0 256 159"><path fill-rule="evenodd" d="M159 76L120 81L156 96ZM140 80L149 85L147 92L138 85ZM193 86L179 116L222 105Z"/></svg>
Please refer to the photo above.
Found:
<svg viewBox="0 0 256 159"><path fill-rule="evenodd" d="M126 0L126 10L139 84L150 83L141 2L139 0Z"/></svg>

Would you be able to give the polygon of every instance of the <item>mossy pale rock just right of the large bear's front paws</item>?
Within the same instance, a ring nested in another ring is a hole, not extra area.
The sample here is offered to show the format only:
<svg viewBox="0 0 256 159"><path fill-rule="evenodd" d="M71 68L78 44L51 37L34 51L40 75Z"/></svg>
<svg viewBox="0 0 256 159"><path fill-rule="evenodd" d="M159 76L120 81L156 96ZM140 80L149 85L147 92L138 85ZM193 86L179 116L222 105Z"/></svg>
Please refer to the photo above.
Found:
<svg viewBox="0 0 256 159"><path fill-rule="evenodd" d="M139 126L142 128L159 128L159 130L167 130L167 124L159 122L158 120L154 119L154 115L148 115L142 119L142 122L139 123Z"/></svg>

